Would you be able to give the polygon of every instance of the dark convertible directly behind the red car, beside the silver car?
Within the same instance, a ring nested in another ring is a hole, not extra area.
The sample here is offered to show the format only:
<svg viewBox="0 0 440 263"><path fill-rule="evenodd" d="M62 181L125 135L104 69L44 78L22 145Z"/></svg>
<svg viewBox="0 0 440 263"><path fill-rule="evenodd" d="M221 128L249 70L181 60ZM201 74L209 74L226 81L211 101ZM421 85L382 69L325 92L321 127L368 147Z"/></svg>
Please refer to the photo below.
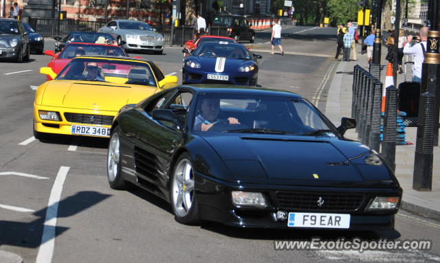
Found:
<svg viewBox="0 0 440 263"><path fill-rule="evenodd" d="M61 38L59 36L54 37L55 42L55 53L61 52L61 50L68 43L96 43L96 44L105 44L105 43L113 43L115 38L111 36L111 34L107 33L98 33L98 32L70 32L65 38Z"/></svg>

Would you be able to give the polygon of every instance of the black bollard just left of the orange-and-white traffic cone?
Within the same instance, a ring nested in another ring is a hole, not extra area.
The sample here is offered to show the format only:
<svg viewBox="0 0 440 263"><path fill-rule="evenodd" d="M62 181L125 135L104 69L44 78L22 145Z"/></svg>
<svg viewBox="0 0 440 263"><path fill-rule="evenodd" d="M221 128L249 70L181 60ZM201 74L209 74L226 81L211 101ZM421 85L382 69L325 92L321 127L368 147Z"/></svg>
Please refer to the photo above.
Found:
<svg viewBox="0 0 440 263"><path fill-rule="evenodd" d="M375 80L373 95L373 110L371 111L371 132L370 132L370 148L376 152L380 151L380 122L382 120L382 82Z"/></svg>

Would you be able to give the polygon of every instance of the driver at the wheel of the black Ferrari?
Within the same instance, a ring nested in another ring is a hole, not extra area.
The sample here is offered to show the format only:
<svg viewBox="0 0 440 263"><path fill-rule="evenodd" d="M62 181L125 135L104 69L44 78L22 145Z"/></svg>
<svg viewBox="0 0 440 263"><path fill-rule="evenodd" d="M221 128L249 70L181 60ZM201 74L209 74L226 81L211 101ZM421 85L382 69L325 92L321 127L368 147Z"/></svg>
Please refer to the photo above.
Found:
<svg viewBox="0 0 440 263"><path fill-rule="evenodd" d="M214 124L221 122L218 119L220 112L220 100L217 98L204 98L201 101L201 114L195 117L194 130L206 131L209 130ZM228 117L225 120L228 124L240 124L239 120L234 117Z"/></svg>

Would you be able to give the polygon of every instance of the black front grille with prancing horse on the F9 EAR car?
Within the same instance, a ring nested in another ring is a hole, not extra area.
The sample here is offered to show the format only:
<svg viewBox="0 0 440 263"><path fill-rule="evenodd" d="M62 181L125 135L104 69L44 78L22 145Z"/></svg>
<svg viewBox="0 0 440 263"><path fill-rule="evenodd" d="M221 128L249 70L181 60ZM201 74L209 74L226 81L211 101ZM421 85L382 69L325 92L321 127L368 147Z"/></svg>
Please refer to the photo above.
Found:
<svg viewBox="0 0 440 263"><path fill-rule="evenodd" d="M324 201L321 206L318 200ZM276 192L276 202L281 209L356 211L364 202L363 194Z"/></svg>

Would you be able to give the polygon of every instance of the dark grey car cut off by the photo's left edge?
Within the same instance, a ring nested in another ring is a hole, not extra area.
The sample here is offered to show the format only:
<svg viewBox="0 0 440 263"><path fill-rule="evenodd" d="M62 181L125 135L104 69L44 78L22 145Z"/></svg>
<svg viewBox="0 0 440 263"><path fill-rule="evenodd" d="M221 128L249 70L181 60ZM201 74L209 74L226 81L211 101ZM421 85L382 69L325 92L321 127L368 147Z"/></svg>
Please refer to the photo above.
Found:
<svg viewBox="0 0 440 263"><path fill-rule="evenodd" d="M13 58L17 62L29 60L29 36L21 21L0 19L0 58Z"/></svg>

